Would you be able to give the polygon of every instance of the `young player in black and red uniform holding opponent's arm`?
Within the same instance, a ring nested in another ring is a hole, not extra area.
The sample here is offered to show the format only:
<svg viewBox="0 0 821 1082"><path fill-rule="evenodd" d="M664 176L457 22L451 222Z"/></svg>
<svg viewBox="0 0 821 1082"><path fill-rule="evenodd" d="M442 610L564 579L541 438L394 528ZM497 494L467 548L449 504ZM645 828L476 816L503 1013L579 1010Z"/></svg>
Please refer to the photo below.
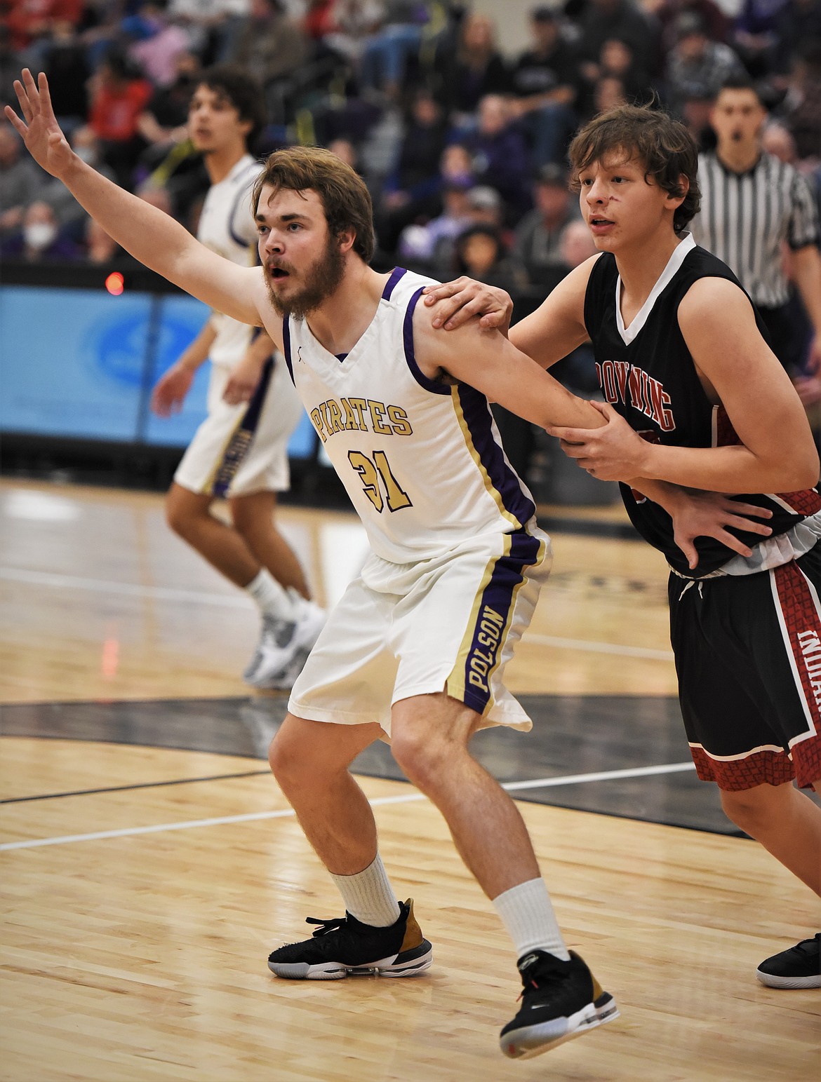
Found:
<svg viewBox="0 0 821 1082"><path fill-rule="evenodd" d="M624 106L590 121L570 154L600 254L509 338L545 367L592 341L608 423L548 431L588 473L623 483L630 519L670 566L699 777L821 895L821 808L793 784L821 791L821 497L809 425L752 302L686 233L700 197L683 126ZM499 291L459 279L426 303L443 299L434 326L477 314L509 326ZM821 988L820 946L821 934L767 959L758 979Z"/></svg>

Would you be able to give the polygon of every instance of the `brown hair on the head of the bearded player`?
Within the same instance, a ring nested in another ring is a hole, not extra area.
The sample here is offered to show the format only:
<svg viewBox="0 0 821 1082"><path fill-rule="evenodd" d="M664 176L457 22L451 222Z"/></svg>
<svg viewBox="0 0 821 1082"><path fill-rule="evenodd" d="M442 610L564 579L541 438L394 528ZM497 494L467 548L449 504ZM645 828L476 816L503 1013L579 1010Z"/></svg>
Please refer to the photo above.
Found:
<svg viewBox="0 0 821 1082"><path fill-rule="evenodd" d="M374 207L370 193L360 174L330 150L318 146L289 146L274 153L257 177L251 196L253 213L259 208L265 184L274 192L314 190L325 210L331 236L353 229L353 250L369 263L376 250Z"/></svg>

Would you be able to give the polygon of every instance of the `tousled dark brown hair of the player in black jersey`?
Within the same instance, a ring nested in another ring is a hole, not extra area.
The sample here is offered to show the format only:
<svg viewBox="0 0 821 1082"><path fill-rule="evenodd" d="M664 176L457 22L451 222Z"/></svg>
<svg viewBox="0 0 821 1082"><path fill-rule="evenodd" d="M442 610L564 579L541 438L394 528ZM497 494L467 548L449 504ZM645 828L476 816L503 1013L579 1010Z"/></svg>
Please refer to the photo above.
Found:
<svg viewBox="0 0 821 1082"><path fill-rule="evenodd" d="M578 192L578 174L613 151L644 166L644 180L652 177L672 196L685 196L673 215L673 228L681 233L701 208L699 188L699 148L690 132L678 120L660 109L639 105L620 105L594 117L570 144L568 156L572 170L571 187ZM689 181L685 193L681 176Z"/></svg>

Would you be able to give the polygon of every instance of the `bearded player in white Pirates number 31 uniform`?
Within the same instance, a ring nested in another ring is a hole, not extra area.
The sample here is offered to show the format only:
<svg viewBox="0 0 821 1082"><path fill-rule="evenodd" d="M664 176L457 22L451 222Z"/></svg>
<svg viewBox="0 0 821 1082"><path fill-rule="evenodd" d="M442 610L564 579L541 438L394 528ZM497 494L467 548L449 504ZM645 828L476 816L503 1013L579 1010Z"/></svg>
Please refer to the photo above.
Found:
<svg viewBox="0 0 821 1082"><path fill-rule="evenodd" d="M329 151L269 158L255 188L262 266L240 267L81 162L43 75L24 71L15 91L23 119L9 107L6 116L35 160L118 243L216 309L265 328L370 540L270 753L346 915L273 951L270 968L336 979L430 966L430 944L390 885L373 812L349 773L390 736L513 941L524 990L503 1052L533 1056L614 1019L613 998L566 949L519 810L468 750L483 726L531 725L503 674L550 559L487 400L542 425L603 418L496 331L435 331L417 304L428 279L372 270L367 188Z"/></svg>

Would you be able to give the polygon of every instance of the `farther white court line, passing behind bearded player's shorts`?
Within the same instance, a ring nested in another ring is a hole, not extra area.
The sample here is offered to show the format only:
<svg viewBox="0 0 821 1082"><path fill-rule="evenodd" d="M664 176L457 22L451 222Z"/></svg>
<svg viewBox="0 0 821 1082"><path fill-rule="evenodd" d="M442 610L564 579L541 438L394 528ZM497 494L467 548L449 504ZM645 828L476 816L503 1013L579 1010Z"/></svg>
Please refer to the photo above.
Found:
<svg viewBox="0 0 821 1082"><path fill-rule="evenodd" d="M90 590L99 594L122 594L127 597L153 597L157 601L191 602L195 605L217 605L225 608L249 608L251 602L240 594L209 594L206 591L171 590L167 586L139 586L130 582L109 582L105 579L83 579L74 575L53 575L48 571L25 571L14 567L0 567L0 579L10 582L28 582L37 586L57 590ZM646 658L650 661L672 661L670 650L653 650L643 646L618 646L587 638L559 638L556 635L525 634L525 642L552 646L562 650L584 650L589 654L615 654L625 658Z"/></svg>

